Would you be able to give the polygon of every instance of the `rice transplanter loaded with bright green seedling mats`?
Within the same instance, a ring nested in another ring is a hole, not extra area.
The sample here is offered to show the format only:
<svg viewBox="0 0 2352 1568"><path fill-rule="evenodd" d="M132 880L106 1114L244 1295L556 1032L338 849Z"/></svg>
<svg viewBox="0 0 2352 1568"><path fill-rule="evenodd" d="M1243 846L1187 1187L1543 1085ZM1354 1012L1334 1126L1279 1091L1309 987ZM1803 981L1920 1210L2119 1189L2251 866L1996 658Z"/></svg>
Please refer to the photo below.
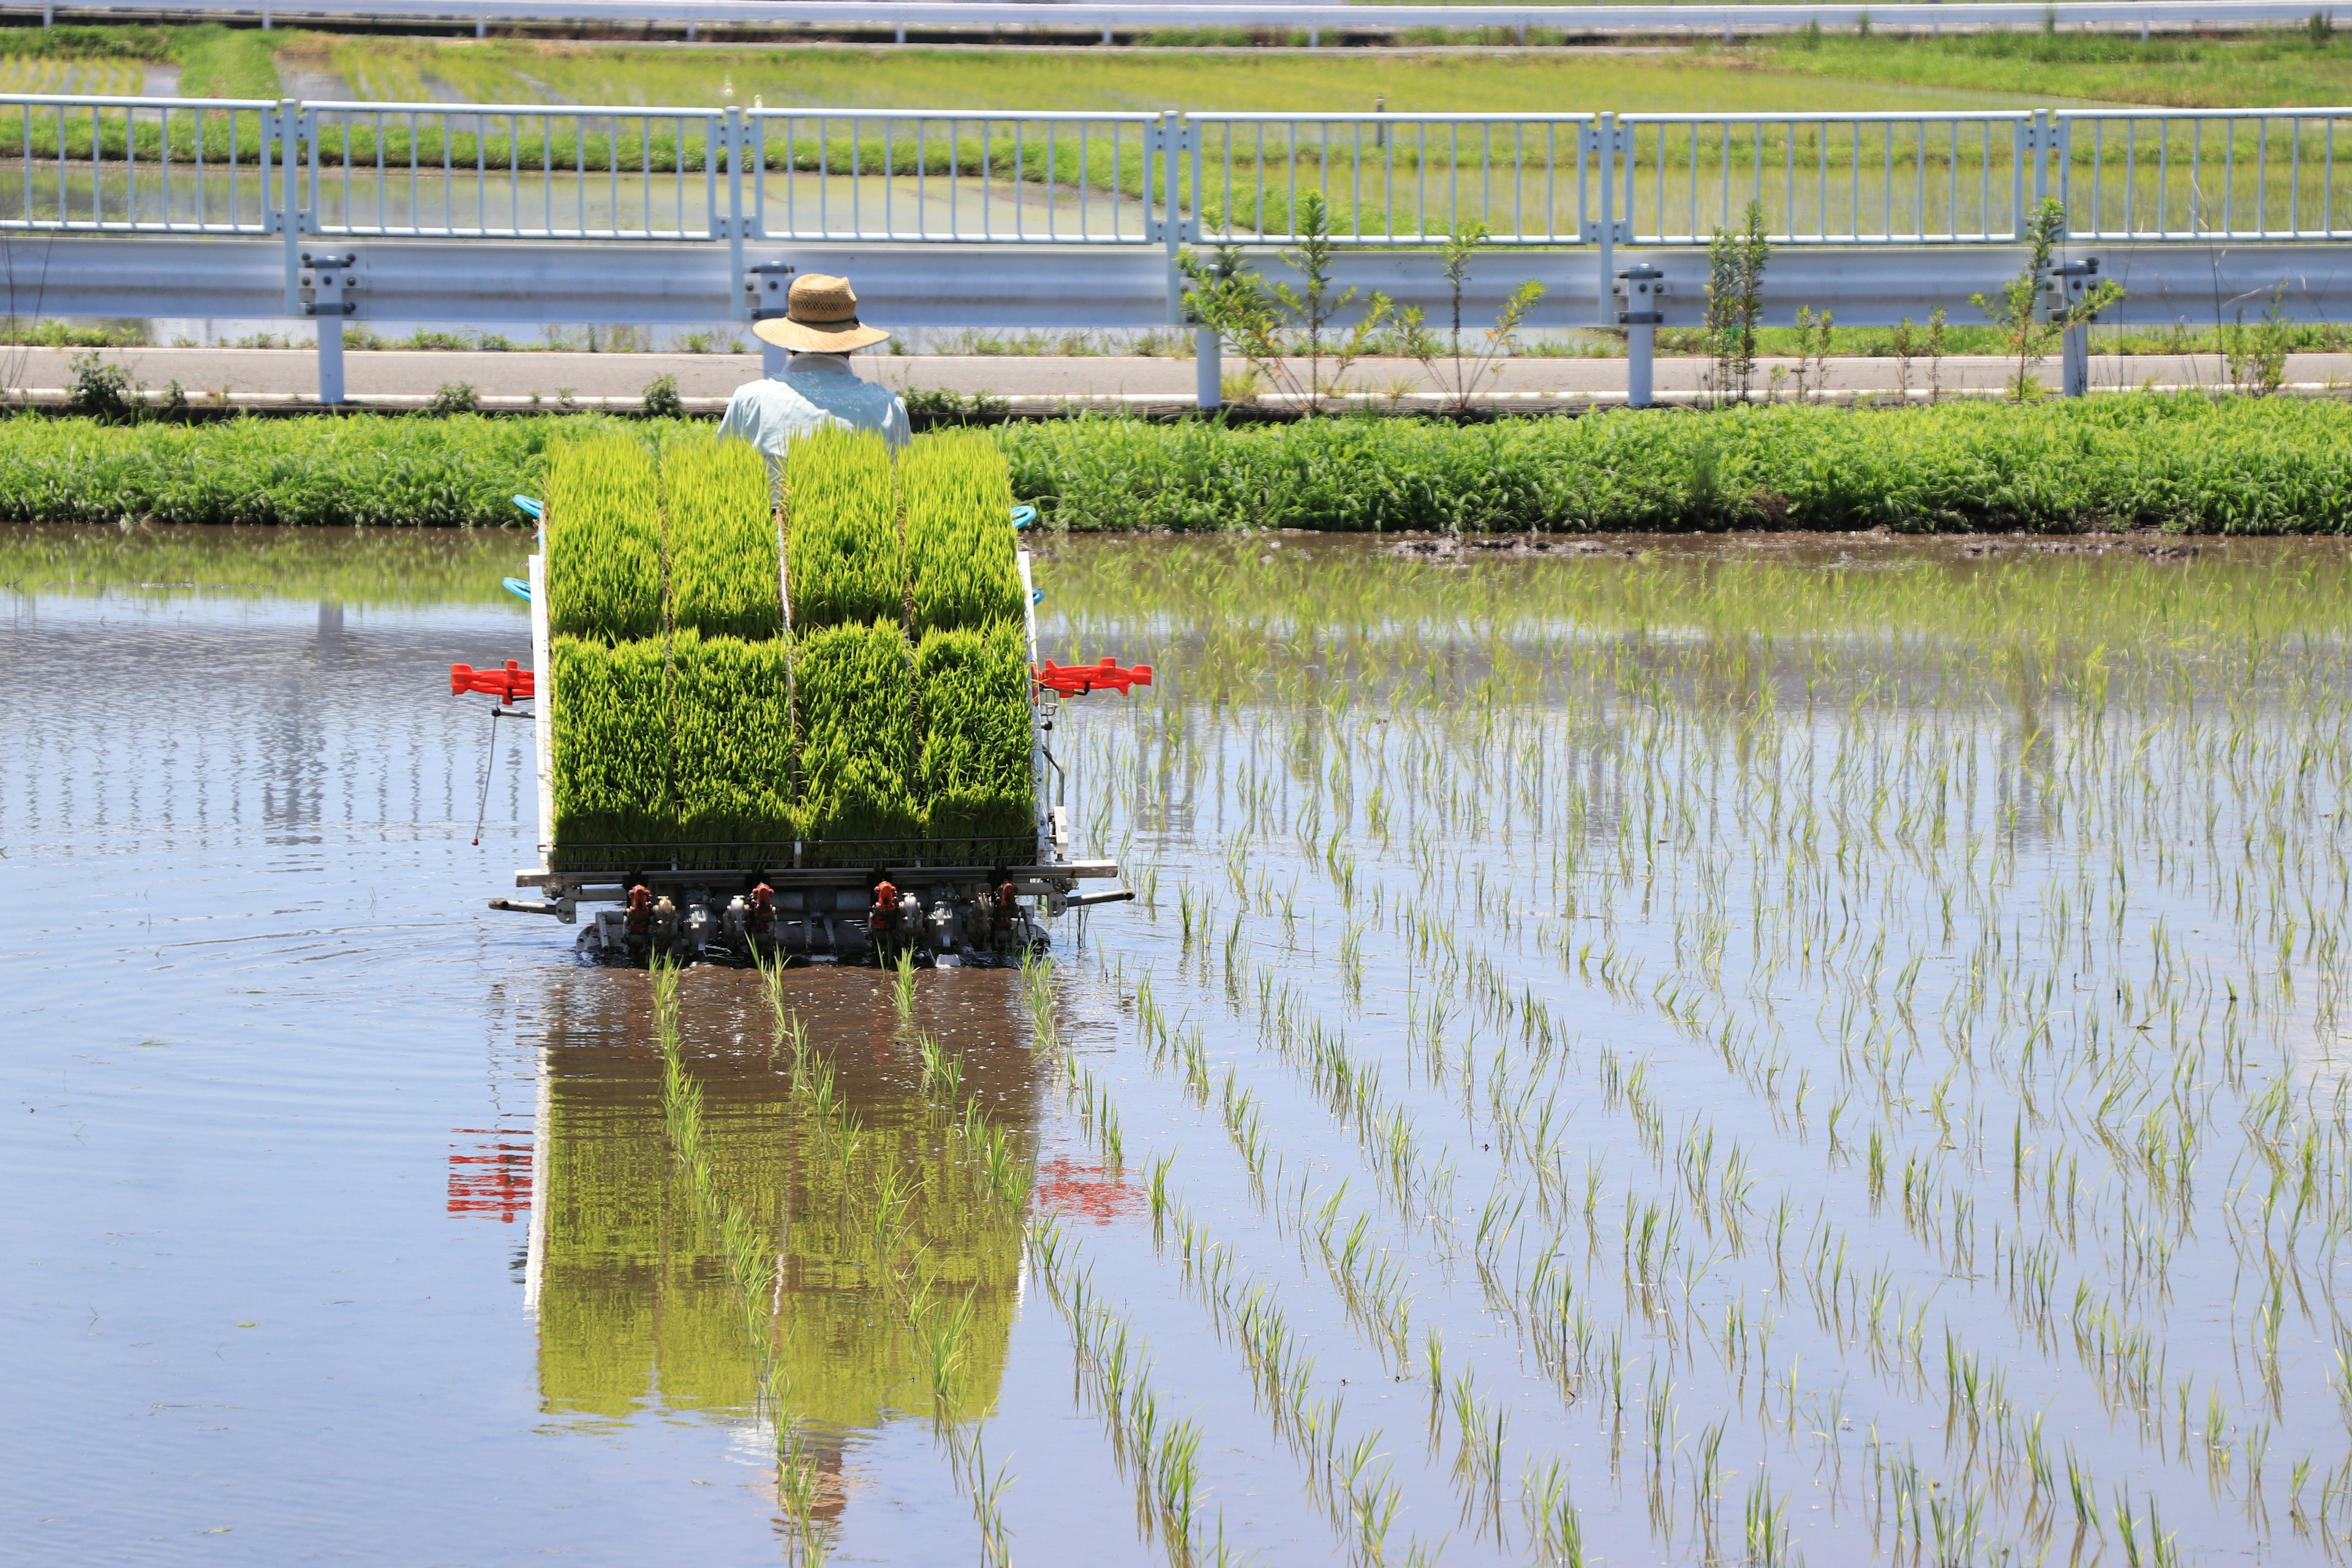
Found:
<svg viewBox="0 0 2352 1568"><path fill-rule="evenodd" d="M1030 679L1030 562L990 442L917 447L906 503L877 444L811 444L783 522L741 454L656 465L621 442L564 461L529 562L532 910L619 905L581 933L597 959L1011 961L1105 898L1077 893L1117 867L1068 856L1061 698Z"/></svg>

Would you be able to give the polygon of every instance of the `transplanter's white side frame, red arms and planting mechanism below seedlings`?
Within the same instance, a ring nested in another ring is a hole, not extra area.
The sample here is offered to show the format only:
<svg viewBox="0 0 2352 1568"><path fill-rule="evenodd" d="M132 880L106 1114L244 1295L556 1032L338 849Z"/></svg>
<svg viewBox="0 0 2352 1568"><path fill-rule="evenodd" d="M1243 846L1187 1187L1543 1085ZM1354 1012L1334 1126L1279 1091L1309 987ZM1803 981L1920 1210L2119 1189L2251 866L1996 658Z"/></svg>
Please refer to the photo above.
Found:
<svg viewBox="0 0 2352 1568"><path fill-rule="evenodd" d="M517 498L520 503L522 498ZM524 508L539 517L539 508ZM1070 853L1068 771L1054 757L1061 703L1089 691L1148 686L1150 665L1115 661L1070 665L1037 661L1037 592L1028 550L1018 552L1023 635L1030 661L1030 780L1037 802L1033 837L995 842L934 839L873 846L776 844L555 844L555 665L548 632L546 520L532 555L524 597L532 604L532 670L452 665L452 693L489 693L501 705L534 701L539 865L515 872L515 886L539 898L492 898L489 907L553 914L588 924L581 954L607 964L680 961L835 961L1016 964L1042 954L1047 926L1065 910L1134 898L1131 891L1082 891L1117 877L1112 860ZM783 595L790 604L790 592ZM1016 853L1002 853L1002 851Z"/></svg>

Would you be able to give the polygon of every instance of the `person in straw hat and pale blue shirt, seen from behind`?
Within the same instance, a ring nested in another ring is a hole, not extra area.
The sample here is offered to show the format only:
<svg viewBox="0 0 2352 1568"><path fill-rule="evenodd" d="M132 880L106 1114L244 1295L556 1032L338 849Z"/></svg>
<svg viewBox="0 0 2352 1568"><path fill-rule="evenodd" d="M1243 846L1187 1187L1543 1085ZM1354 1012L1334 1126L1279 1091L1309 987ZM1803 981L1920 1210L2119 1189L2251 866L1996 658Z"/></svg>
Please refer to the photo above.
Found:
<svg viewBox="0 0 2352 1568"><path fill-rule="evenodd" d="M896 451L906 444L906 404L887 386L858 381L849 353L870 348L889 334L858 324L858 296L847 277L807 273L793 280L783 315L753 322L764 343L790 353L781 376L762 376L739 386L727 400L720 437L739 437L767 454L769 465L783 463L795 437L837 425L842 430L880 430Z"/></svg>

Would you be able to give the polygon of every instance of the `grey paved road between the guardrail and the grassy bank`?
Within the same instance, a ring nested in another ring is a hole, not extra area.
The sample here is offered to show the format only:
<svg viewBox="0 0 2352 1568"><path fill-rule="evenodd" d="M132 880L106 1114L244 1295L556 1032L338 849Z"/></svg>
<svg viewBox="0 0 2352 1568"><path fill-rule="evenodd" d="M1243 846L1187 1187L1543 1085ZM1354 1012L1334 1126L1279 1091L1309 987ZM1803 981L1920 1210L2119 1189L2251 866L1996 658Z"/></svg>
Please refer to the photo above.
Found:
<svg viewBox="0 0 2352 1568"><path fill-rule="evenodd" d="M73 350L0 348L0 388L33 400L61 397L73 386ZM176 381L195 402L207 397L287 407L318 395L318 357L289 348L122 348L101 355L120 364L151 393ZM988 393L1028 404L1056 400L1101 400L1131 404L1190 402L1195 374L1190 360L1141 357L934 357L934 355L858 355L858 374L898 390ZM346 388L358 404L416 407L449 383L466 383L485 407L614 407L635 404L656 376L675 376L689 407L720 407L727 393L760 374L757 355L656 355L656 353L435 353L376 350L343 357ZM1225 371L1247 369L1228 357ZM1658 360L1661 393L1696 393L1705 386L1705 360ZM1759 386L1783 371L1780 386L1792 390L1797 362L1766 362ZM2009 376L2006 360L1952 357L1943 362L1945 390L1992 390ZM2058 364L2042 369L2044 383L2056 381ZM1915 393L1926 390L1929 367L1912 367ZM2293 355L2288 383L2305 390L2352 393L2352 355ZM2225 386L2220 355L2143 355L2098 357L2091 362L2098 388L2136 386ZM1364 360L1350 371L1350 383L1374 397L1399 404L1423 402L1442 390L1411 360ZM1893 360L1830 360L1830 393L1896 390ZM1618 397L1625 390L1623 360L1510 360L1489 383L1494 395L1512 402L1581 404Z"/></svg>

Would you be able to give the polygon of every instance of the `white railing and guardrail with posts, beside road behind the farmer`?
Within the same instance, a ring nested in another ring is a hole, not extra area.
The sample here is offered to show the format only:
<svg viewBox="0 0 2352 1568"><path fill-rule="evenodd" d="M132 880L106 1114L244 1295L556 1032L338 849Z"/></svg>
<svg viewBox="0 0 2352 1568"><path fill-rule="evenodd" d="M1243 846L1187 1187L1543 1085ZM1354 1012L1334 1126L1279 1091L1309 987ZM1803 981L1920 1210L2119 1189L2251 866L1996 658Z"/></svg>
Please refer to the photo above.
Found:
<svg viewBox="0 0 2352 1568"><path fill-rule="evenodd" d="M877 317L903 324L1181 324L1183 244L1258 247L1282 277L1319 197L1343 284L1451 306L1432 247L1479 228L1491 249L1472 310L1491 308L1498 277L1534 277L1545 320L1529 324L1628 324L1639 369L1656 324L1696 315L1705 242L1750 214L1778 247L1769 313L1811 303L1863 327L1955 306L2016 275L2016 240L2058 197L2067 275L2124 280L2114 320L2223 324L2272 296L2343 320L2345 132L2352 108L1096 115L9 96L0 292L12 317L278 313L256 308L259 289L318 322L320 395L339 402L346 317L743 320L793 268L851 270ZM1021 247L1011 266L981 261L1007 247ZM1613 284L1635 266L1649 294L1625 315ZM2082 334L2070 341L2079 386ZM1204 334L1204 400L1214 369Z"/></svg>

